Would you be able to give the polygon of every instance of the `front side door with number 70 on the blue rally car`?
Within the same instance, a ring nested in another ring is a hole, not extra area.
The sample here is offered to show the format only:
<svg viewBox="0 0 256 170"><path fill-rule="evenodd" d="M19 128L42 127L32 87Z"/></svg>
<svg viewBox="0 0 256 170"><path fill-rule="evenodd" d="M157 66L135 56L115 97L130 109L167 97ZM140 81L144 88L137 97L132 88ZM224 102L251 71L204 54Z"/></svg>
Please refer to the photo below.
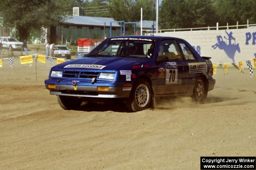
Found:
<svg viewBox="0 0 256 170"><path fill-rule="evenodd" d="M175 40L162 40L158 48L157 59L157 94L187 93L189 81L185 76L187 63L183 61L180 49Z"/></svg>

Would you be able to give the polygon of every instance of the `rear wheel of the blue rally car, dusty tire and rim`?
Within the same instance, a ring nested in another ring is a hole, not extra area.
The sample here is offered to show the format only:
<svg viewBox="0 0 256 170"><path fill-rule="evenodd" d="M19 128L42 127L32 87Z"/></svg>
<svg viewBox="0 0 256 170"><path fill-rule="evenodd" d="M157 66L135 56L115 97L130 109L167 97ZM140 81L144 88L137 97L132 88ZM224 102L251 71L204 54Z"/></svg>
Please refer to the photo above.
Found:
<svg viewBox="0 0 256 170"><path fill-rule="evenodd" d="M208 89L206 89L207 85L206 82L204 81L204 79L202 79L201 77L198 78L195 82L195 88L193 91L193 100L200 102L200 103L204 103L207 94L208 94Z"/></svg>

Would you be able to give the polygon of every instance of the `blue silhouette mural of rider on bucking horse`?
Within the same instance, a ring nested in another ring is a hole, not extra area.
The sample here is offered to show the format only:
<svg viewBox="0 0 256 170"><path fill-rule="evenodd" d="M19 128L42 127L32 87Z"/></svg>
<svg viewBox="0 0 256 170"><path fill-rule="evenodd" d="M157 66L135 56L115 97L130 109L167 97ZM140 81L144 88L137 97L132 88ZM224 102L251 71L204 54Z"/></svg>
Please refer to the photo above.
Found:
<svg viewBox="0 0 256 170"><path fill-rule="evenodd" d="M235 53L236 51L238 51L240 53L240 47L239 47L239 43L236 44L236 38L233 37L233 32L230 31L230 33L228 33L226 30L225 30L228 38L226 38L224 36L224 38L226 40L229 40L228 42L228 45L226 42L223 41L223 38L221 35L218 35L217 36L217 43L213 46L211 46L213 49L216 49L217 47L221 50L224 50L226 55L231 58L233 60L233 62L235 62ZM231 41L234 41L234 43L232 43Z"/></svg>

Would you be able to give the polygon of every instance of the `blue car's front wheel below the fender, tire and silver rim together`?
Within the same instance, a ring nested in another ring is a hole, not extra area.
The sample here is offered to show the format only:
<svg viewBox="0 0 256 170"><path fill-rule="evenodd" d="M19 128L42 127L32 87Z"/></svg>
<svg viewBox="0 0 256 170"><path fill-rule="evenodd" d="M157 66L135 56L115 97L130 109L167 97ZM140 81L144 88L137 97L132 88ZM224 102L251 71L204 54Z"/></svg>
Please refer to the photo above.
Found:
<svg viewBox="0 0 256 170"><path fill-rule="evenodd" d="M130 112L138 112L147 109L151 103L151 88L145 79L139 79L134 83L130 97L125 100Z"/></svg>

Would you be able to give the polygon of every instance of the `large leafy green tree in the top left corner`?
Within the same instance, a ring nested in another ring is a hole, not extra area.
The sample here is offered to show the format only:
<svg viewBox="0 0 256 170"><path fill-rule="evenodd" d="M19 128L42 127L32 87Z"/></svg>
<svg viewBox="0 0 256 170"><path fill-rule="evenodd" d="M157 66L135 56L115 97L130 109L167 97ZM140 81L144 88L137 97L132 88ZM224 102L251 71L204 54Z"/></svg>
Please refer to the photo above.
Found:
<svg viewBox="0 0 256 170"><path fill-rule="evenodd" d="M16 25L20 40L27 39L32 28L58 25L67 19L69 0L8 0L0 3L0 16L5 26Z"/></svg>

